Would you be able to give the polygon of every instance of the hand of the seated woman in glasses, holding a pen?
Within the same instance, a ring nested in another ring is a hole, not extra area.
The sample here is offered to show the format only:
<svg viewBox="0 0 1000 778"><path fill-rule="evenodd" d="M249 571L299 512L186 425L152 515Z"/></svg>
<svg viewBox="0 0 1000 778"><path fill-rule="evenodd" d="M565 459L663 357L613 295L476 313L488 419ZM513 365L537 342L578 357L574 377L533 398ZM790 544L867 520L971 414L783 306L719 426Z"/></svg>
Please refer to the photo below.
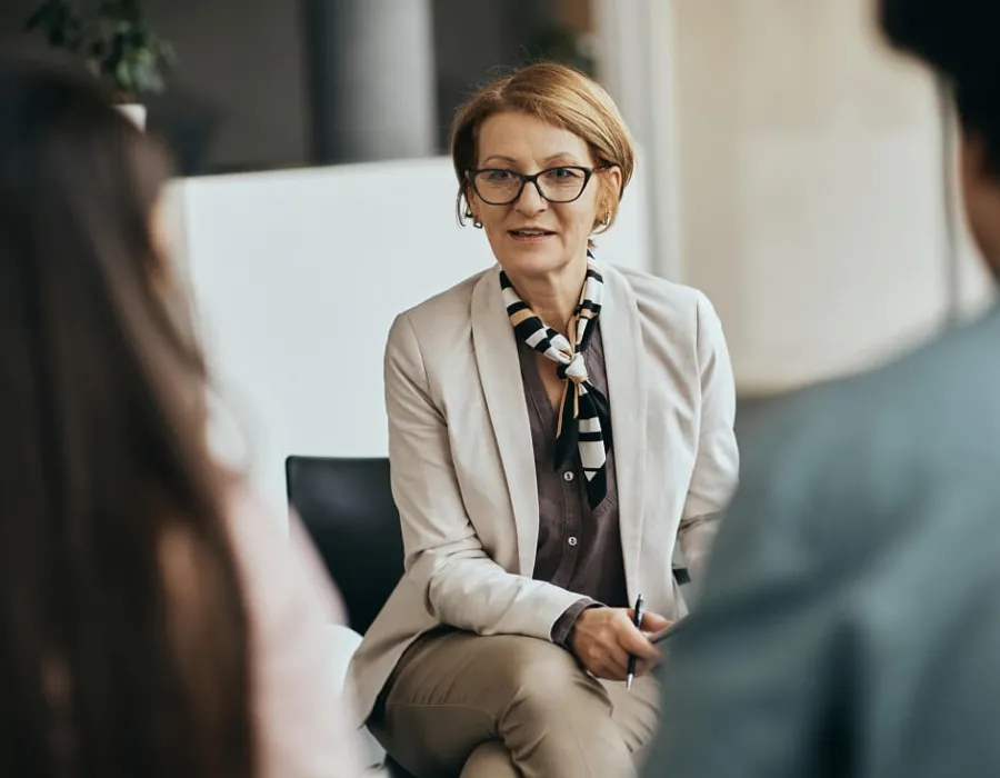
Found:
<svg viewBox="0 0 1000 778"><path fill-rule="evenodd" d="M577 617L570 632L570 650L598 678L624 680L629 655L634 655L636 675L660 659L660 652L643 632L666 629L670 621L657 614L642 615L642 631L632 624L631 608L588 608Z"/></svg>

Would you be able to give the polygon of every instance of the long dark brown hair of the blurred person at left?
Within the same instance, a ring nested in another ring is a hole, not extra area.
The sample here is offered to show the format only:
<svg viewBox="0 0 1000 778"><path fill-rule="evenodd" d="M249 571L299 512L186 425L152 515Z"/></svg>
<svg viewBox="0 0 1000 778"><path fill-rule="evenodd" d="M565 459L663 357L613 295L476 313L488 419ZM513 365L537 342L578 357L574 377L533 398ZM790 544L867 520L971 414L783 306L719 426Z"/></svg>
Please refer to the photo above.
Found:
<svg viewBox="0 0 1000 778"><path fill-rule="evenodd" d="M88 76L0 54L0 775L253 775L228 476L150 229L168 171Z"/></svg>

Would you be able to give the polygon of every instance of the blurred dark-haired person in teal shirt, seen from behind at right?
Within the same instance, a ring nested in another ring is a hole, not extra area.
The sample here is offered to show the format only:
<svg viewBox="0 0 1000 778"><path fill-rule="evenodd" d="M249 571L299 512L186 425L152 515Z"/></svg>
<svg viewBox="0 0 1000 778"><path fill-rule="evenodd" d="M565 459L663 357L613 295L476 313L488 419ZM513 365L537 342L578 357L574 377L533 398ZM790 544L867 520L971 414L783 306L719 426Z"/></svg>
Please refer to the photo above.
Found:
<svg viewBox="0 0 1000 778"><path fill-rule="evenodd" d="M966 212L997 275L1000 4L879 10L954 88ZM1000 308L769 421L664 648L646 775L1000 776Z"/></svg>

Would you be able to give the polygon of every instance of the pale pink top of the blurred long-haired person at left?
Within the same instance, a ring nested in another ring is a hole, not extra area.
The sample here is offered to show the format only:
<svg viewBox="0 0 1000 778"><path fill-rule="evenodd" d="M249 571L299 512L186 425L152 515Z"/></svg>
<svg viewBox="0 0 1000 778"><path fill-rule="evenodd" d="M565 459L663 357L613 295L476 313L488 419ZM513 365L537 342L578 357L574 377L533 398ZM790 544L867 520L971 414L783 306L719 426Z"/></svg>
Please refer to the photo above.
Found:
<svg viewBox="0 0 1000 778"><path fill-rule="evenodd" d="M342 609L297 518L286 532L261 506L232 511L250 616L259 778L358 778L351 702L332 672L328 629Z"/></svg>

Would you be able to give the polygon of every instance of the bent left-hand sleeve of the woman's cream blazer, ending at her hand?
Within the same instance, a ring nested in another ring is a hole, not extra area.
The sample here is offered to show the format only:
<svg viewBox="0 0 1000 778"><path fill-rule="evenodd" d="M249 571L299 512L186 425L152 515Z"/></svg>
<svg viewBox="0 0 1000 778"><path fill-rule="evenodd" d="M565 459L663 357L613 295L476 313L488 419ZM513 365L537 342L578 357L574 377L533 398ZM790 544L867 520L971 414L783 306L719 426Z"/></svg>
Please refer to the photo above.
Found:
<svg viewBox="0 0 1000 778"><path fill-rule="evenodd" d="M386 349L386 408L406 575L428 611L441 624L480 635L551 640L557 619L580 596L508 572L483 549L462 501L447 420L431 398L406 313L393 323Z"/></svg>

